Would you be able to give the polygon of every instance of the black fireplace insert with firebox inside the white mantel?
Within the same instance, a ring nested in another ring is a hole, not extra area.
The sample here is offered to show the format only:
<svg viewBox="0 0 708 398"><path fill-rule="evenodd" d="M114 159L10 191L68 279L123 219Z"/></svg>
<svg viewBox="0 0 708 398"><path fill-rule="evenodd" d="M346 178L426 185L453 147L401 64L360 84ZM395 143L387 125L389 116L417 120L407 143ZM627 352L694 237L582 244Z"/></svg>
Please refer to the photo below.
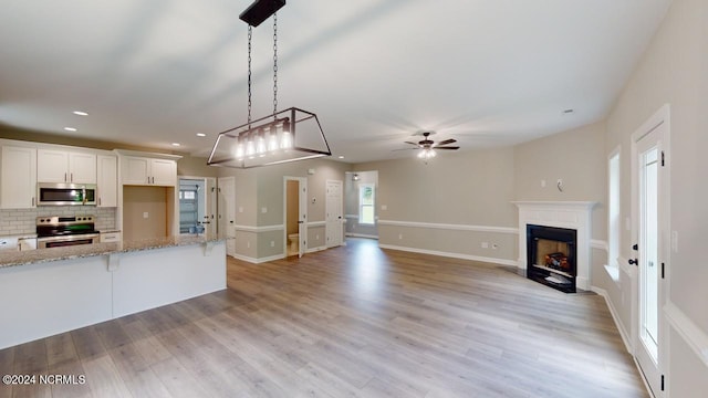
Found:
<svg viewBox="0 0 708 398"><path fill-rule="evenodd" d="M575 293L577 231L527 224L527 277L565 293Z"/></svg>

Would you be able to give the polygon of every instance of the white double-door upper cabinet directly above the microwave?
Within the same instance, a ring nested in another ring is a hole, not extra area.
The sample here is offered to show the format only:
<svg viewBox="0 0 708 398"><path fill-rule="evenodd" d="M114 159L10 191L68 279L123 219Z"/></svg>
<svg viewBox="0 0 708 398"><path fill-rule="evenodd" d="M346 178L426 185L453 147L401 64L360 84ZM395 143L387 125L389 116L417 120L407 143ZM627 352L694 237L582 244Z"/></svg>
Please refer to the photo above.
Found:
<svg viewBox="0 0 708 398"><path fill-rule="evenodd" d="M96 155L40 148L37 151L37 180L96 184Z"/></svg>

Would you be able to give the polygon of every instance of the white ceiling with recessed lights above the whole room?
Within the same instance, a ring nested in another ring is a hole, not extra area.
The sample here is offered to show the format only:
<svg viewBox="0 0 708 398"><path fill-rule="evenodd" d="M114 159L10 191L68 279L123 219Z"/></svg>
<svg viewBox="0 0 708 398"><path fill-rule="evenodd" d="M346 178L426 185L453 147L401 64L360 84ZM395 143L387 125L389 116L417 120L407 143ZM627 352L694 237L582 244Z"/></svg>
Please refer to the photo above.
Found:
<svg viewBox="0 0 708 398"><path fill-rule="evenodd" d="M250 2L2 0L0 123L207 156L246 123ZM460 150L530 140L605 117L669 3L290 0L279 109L316 113L353 163L413 156L393 149L421 129ZM254 118L273 111L272 34L253 29Z"/></svg>

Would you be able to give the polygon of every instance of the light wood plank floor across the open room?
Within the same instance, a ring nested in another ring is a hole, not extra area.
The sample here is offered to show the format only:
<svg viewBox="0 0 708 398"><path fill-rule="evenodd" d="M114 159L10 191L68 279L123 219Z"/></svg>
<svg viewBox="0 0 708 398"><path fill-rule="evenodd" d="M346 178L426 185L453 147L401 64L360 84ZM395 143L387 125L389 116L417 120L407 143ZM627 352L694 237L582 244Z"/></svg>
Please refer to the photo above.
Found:
<svg viewBox="0 0 708 398"><path fill-rule="evenodd" d="M0 350L1 375L85 376L0 397L648 396L601 296L509 268L350 239L229 259L228 285Z"/></svg>

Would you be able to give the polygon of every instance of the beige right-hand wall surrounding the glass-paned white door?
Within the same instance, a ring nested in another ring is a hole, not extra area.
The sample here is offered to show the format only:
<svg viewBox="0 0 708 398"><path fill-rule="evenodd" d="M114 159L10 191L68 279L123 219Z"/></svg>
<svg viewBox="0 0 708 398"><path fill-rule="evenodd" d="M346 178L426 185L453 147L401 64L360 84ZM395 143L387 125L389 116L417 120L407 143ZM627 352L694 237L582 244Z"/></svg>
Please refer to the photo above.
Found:
<svg viewBox="0 0 708 398"><path fill-rule="evenodd" d="M667 264L668 302L697 326L708 339L708 266L705 239L708 237L708 185L704 151L708 148L708 2L675 0L642 62L607 119L605 153L622 148L622 180L631 181L631 135L664 104L670 105L670 229L678 235L677 250ZM631 186L622 185L622 219L631 217ZM634 221L636 222L636 220ZM664 231L667 233L668 231ZM621 255L633 256L632 237L624 231ZM624 293L628 276L621 273L622 291L608 281L601 287L615 291L613 305L626 314ZM708 367L697 360L689 342L669 327L670 357L667 360L671 397L698 397L708 390ZM691 334L693 336L694 334ZM700 341L700 337L697 339ZM696 341L694 342L696 343ZM702 346L701 349L708 349ZM705 355L705 354L704 354ZM708 360L708 359L707 359ZM680 383L679 383L680 381Z"/></svg>

